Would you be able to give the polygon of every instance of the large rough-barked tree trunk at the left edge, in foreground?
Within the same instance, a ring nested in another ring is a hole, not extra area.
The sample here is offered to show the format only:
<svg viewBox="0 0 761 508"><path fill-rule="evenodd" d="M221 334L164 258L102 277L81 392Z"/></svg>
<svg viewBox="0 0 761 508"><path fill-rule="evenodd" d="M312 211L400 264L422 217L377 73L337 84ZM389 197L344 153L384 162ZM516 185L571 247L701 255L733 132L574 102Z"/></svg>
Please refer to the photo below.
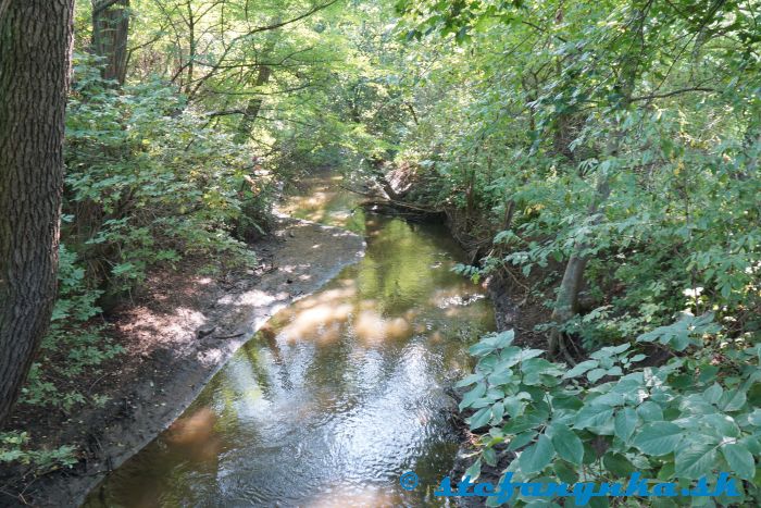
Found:
<svg viewBox="0 0 761 508"><path fill-rule="evenodd" d="M0 426L55 299L74 0L0 13Z"/></svg>

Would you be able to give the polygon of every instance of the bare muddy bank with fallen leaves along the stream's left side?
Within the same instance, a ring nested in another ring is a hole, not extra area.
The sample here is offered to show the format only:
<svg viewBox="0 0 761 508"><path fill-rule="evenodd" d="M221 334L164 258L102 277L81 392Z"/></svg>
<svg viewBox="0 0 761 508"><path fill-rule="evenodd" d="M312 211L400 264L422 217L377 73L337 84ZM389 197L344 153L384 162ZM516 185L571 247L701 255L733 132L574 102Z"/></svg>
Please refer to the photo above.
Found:
<svg viewBox="0 0 761 508"><path fill-rule="evenodd" d="M276 233L252 246L260 270L222 278L158 274L149 292L116 312L114 333L128 358L97 383L111 400L70 416L55 442L75 444L82 460L21 484L0 506L78 506L87 492L166 429L225 361L270 317L304 297L364 252L362 237L280 216ZM54 432L29 425L33 432ZM20 488L12 494L16 495Z"/></svg>

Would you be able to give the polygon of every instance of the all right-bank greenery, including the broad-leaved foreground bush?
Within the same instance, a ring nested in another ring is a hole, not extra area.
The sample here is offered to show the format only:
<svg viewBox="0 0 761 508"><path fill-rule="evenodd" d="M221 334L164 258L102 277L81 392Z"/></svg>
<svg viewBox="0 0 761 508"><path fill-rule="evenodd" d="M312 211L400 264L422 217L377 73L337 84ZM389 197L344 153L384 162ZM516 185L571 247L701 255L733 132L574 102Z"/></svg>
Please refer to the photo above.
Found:
<svg viewBox="0 0 761 508"><path fill-rule="evenodd" d="M462 273L531 281L565 361L512 333L474 346L471 474L507 444L517 479L729 471L758 504L757 2L397 7L427 63L397 158L492 238Z"/></svg>

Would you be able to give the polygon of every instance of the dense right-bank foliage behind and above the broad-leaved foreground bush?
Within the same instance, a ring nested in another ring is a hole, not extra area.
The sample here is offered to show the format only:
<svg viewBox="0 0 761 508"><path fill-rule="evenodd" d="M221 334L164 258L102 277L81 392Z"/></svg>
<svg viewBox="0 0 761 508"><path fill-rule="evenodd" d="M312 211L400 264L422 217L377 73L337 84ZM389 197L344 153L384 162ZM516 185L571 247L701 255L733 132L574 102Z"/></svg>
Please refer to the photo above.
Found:
<svg viewBox="0 0 761 508"><path fill-rule="evenodd" d="M452 48L422 50L421 101L437 100L401 157L439 175L441 201L489 220L479 273L562 273L583 257L573 310L594 311L556 324L589 348L670 323L683 293L736 335L756 331L752 3L401 2L411 39Z"/></svg>

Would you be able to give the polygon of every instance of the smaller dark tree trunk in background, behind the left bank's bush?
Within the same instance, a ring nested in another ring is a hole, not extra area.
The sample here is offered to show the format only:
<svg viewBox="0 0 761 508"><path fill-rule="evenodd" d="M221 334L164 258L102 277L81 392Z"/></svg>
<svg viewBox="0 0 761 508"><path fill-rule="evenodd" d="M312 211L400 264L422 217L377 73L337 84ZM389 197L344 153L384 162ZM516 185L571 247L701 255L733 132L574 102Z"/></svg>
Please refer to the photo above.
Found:
<svg viewBox="0 0 761 508"><path fill-rule="evenodd" d="M92 51L102 57L104 79L124 85L127 75L129 0L92 0Z"/></svg>

